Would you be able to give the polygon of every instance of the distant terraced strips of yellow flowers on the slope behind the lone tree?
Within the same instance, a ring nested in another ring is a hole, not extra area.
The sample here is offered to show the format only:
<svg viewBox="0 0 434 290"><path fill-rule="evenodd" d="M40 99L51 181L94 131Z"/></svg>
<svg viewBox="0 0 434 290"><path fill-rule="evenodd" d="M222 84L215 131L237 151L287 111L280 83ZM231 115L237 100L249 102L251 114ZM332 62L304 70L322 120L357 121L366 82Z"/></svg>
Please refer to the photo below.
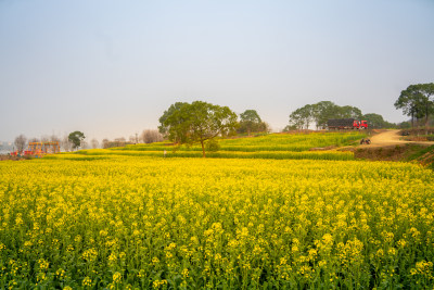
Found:
<svg viewBox="0 0 434 290"><path fill-rule="evenodd" d="M269 134L257 137L219 139L218 151L207 150L207 157L217 159L277 159L277 160L354 160L352 152L336 150L309 151L311 148L334 148L357 142L367 135L361 131L349 133L299 133ZM176 147L171 143L155 142L151 144L128 144L126 147L80 150L81 155L104 156L163 156L201 157L199 144Z"/></svg>

